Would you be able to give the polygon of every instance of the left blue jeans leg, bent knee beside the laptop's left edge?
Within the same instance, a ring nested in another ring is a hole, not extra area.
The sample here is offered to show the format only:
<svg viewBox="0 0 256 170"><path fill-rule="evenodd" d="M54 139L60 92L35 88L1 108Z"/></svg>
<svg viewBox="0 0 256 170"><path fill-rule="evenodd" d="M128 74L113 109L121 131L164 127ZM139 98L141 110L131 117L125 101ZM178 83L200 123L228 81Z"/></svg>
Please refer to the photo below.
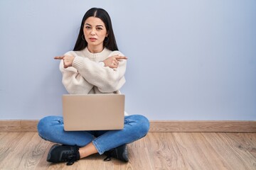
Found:
<svg viewBox="0 0 256 170"><path fill-rule="evenodd" d="M92 131L65 131L62 116L47 116L38 123L38 135L44 140L83 147L95 138Z"/></svg>

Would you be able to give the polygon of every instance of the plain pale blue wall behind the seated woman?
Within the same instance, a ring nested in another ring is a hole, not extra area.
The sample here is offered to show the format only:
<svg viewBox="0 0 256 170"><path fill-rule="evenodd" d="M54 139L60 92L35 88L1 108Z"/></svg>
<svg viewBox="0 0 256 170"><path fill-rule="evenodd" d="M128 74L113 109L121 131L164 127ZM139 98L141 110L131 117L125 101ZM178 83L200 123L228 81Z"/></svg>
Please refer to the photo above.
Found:
<svg viewBox="0 0 256 170"><path fill-rule="evenodd" d="M129 57L126 111L151 120L256 120L254 0L1 0L0 119L61 115L55 55L91 7Z"/></svg>

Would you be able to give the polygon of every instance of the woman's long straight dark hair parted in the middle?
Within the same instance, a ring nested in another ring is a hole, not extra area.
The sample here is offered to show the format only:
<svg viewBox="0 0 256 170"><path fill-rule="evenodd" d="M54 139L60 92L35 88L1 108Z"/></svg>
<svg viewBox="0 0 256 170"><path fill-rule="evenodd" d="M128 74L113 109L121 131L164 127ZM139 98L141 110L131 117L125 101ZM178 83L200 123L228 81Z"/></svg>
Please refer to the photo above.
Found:
<svg viewBox="0 0 256 170"><path fill-rule="evenodd" d="M108 40L104 40L104 42L103 42L104 47L107 47L107 49L112 50L112 51L118 50L117 42L114 38L114 31L112 28L110 15L107 13L107 11L105 11L102 8L90 8L85 13L85 16L83 16L83 18L82 18L82 23L81 23L80 31L78 34L78 39L75 42L74 51L80 51L80 50L83 50L85 47L87 47L87 41L83 40L82 36L84 36L83 28L84 28L85 20L87 18L89 18L90 16L100 18L103 21L103 23L105 23L105 27L107 28L107 34L108 34L107 39Z"/></svg>

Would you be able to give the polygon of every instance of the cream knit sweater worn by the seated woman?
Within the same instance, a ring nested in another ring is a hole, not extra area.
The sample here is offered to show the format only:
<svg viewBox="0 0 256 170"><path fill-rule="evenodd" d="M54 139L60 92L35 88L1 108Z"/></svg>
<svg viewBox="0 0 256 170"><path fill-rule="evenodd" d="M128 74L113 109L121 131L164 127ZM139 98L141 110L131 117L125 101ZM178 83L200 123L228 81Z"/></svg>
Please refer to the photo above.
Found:
<svg viewBox="0 0 256 170"><path fill-rule="evenodd" d="M107 48L99 53L91 53L87 47L80 51L70 51L65 55L73 55L72 67L64 69L63 60L60 61L60 72L63 74L63 85L69 94L103 94L118 93L124 85L126 60L120 60L117 69L104 67L99 62L113 55L122 55L119 51Z"/></svg>

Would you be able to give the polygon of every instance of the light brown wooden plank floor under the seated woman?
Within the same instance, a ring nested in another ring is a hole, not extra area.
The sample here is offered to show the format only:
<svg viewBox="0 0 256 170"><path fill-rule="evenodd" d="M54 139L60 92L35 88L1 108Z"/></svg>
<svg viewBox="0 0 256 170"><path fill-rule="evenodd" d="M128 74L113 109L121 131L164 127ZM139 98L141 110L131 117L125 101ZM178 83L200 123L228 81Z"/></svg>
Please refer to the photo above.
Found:
<svg viewBox="0 0 256 170"><path fill-rule="evenodd" d="M129 146L129 163L98 154L73 166L46 162L53 143L36 132L0 133L0 169L256 169L256 133L149 132Z"/></svg>

